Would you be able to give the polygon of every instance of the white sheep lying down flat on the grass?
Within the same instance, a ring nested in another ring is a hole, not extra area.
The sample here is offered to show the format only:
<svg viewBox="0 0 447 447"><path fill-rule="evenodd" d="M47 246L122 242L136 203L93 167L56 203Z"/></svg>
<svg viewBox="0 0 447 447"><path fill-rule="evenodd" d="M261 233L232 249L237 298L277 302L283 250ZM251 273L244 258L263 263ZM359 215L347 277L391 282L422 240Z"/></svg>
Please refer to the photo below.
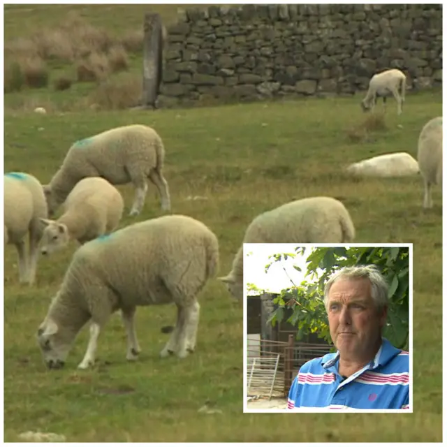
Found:
<svg viewBox="0 0 447 447"><path fill-rule="evenodd" d="M403 177L418 174L419 166L407 152L395 152L352 163L346 172L358 176Z"/></svg>

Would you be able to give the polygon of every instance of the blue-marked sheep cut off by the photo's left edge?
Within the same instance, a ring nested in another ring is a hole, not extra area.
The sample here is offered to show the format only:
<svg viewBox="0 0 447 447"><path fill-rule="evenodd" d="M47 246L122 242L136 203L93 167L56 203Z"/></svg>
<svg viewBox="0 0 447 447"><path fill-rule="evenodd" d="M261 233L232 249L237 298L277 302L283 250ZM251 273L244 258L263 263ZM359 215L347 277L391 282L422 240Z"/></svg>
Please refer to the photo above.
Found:
<svg viewBox="0 0 447 447"><path fill-rule="evenodd" d="M30 286L36 280L38 243L42 237L39 219L47 217L47 202L41 182L28 173L3 175L3 242L14 244L18 254L19 281ZM29 253L25 237L29 237Z"/></svg>

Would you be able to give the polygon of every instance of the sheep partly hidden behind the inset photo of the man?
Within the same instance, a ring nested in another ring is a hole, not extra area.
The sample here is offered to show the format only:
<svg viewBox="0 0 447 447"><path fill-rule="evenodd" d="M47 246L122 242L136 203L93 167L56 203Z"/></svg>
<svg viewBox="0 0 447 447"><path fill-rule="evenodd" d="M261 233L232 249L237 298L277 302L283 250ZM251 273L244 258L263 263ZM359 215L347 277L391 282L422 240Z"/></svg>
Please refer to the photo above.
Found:
<svg viewBox="0 0 447 447"><path fill-rule="evenodd" d="M244 243L351 242L355 228L349 212L331 197L309 197L281 205L259 214L249 224ZM233 268L219 279L228 292L242 300L243 244L233 260Z"/></svg>

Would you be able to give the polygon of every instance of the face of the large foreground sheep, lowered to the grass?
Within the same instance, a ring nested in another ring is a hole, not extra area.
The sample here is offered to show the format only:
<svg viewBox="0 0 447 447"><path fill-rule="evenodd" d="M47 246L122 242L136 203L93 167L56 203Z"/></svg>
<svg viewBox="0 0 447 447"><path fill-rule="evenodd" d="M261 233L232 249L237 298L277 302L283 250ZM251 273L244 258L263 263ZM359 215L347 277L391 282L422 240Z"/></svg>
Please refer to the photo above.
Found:
<svg viewBox="0 0 447 447"><path fill-rule="evenodd" d="M37 331L37 342L41 349L43 361L49 369L60 369L70 351L71 340L64 337L52 319L45 319Z"/></svg>

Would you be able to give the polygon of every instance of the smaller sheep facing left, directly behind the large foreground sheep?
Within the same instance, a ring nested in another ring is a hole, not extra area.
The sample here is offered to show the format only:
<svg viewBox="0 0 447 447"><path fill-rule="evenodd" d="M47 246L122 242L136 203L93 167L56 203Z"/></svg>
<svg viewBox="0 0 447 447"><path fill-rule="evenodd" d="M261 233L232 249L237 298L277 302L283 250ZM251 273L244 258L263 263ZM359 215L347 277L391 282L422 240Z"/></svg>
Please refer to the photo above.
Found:
<svg viewBox="0 0 447 447"><path fill-rule="evenodd" d="M41 254L65 247L71 239L85 244L117 228L122 218L121 193L101 177L86 177L76 184L64 203L64 214L56 221L41 219L45 226Z"/></svg>

